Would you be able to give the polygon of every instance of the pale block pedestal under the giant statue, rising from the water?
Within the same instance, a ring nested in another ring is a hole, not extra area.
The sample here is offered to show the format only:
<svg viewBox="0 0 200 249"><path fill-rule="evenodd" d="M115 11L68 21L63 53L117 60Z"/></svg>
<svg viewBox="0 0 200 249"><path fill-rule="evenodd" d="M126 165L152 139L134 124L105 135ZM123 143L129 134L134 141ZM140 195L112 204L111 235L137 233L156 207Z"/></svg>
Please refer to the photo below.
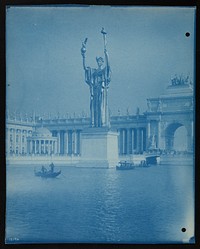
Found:
<svg viewBox="0 0 200 249"><path fill-rule="evenodd" d="M87 128L81 133L78 167L109 168L118 163L118 133L108 128Z"/></svg>

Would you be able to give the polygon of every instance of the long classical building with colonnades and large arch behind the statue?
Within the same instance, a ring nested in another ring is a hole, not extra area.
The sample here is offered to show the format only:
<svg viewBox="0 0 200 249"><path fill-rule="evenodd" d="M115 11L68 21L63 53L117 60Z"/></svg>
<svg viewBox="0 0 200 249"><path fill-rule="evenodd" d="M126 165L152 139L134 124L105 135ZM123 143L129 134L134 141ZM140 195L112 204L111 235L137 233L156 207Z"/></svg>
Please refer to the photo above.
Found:
<svg viewBox="0 0 200 249"><path fill-rule="evenodd" d="M110 129L118 132L118 154L134 155L150 150L174 149L175 131L184 126L187 151L194 147L193 88L188 82L172 83L165 94L147 100L147 111L110 118ZM29 120L7 116L6 154L81 157L82 131L90 119L57 118Z"/></svg>

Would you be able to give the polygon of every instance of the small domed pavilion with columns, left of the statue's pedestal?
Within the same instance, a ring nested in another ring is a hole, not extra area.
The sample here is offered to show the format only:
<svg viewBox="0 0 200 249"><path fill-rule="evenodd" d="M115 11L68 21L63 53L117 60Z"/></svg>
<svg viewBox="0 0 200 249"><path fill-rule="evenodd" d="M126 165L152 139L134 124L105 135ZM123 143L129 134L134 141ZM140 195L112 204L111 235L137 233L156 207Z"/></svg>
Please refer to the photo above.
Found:
<svg viewBox="0 0 200 249"><path fill-rule="evenodd" d="M52 155L57 153L57 137L45 128L36 128L32 137L27 138L28 154Z"/></svg>

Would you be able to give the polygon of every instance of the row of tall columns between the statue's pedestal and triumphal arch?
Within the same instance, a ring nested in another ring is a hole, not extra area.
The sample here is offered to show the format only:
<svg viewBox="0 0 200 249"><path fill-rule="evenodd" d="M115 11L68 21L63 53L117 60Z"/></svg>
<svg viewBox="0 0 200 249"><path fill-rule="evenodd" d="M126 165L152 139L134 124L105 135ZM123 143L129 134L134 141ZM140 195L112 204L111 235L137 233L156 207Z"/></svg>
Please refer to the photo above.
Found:
<svg viewBox="0 0 200 249"><path fill-rule="evenodd" d="M127 155L142 153L146 150L145 128L120 128L119 132L119 154Z"/></svg>

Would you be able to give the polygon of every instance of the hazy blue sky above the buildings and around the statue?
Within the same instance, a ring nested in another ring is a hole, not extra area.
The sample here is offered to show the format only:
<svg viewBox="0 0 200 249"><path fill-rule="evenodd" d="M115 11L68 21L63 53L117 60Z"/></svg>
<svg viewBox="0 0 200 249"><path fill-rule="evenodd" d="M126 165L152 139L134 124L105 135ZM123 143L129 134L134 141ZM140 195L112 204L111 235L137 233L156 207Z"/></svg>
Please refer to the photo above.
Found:
<svg viewBox="0 0 200 249"><path fill-rule="evenodd" d="M193 7L10 6L6 11L6 101L10 112L89 113L86 64L104 56L112 70L113 115L147 109L175 75L194 80ZM186 32L190 33L187 37Z"/></svg>

